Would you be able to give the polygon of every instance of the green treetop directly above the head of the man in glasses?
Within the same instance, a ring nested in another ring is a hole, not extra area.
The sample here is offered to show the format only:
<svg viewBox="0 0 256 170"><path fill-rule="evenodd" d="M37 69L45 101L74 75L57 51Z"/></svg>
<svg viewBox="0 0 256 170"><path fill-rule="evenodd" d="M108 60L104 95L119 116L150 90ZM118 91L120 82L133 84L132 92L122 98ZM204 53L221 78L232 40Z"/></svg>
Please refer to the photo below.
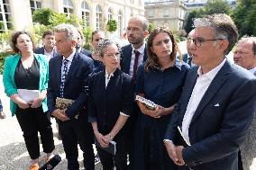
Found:
<svg viewBox="0 0 256 170"><path fill-rule="evenodd" d="M231 5L225 0L207 0L206 6L204 7L204 14L214 13L231 13Z"/></svg>

